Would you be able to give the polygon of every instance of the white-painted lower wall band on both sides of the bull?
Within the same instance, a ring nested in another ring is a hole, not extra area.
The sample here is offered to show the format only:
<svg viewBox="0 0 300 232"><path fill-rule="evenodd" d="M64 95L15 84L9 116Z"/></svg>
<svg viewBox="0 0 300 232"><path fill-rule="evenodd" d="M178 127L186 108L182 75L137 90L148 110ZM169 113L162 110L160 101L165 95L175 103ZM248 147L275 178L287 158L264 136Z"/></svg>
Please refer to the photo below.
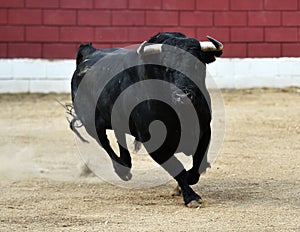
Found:
<svg viewBox="0 0 300 232"><path fill-rule="evenodd" d="M0 59L0 70L0 93L70 93L75 60ZM222 58L208 74L219 88L300 87L300 58Z"/></svg>

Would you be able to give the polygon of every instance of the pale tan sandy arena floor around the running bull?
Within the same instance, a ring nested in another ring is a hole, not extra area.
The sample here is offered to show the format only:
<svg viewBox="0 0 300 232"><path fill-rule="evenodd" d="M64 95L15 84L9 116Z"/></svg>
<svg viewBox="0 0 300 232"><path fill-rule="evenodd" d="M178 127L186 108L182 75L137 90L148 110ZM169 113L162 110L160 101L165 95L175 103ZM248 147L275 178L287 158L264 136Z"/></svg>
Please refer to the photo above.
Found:
<svg viewBox="0 0 300 232"><path fill-rule="evenodd" d="M300 89L223 91L225 141L186 208L175 181L79 177L67 95L0 95L0 231L300 231Z"/></svg>

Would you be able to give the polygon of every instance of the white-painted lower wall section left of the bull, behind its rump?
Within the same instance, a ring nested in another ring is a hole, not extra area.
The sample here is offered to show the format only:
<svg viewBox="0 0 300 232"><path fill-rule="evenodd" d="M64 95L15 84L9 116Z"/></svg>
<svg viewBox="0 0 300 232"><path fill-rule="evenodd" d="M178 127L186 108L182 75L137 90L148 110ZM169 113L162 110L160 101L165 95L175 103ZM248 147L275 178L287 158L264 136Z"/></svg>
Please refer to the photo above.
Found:
<svg viewBox="0 0 300 232"><path fill-rule="evenodd" d="M0 59L0 93L70 93L75 60Z"/></svg>

